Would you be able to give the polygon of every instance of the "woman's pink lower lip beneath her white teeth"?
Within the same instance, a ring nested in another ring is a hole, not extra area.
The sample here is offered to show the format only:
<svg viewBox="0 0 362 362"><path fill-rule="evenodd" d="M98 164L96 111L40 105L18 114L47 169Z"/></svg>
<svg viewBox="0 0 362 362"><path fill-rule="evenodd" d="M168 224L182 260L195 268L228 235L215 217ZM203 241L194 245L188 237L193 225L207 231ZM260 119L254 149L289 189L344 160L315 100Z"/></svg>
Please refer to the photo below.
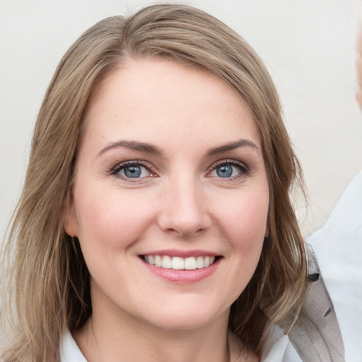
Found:
<svg viewBox="0 0 362 362"><path fill-rule="evenodd" d="M146 265L148 270L156 276L160 276L163 279L173 281L175 283L191 284L202 281L214 274L218 268L218 264L221 262L221 259L216 260L216 262L211 264L209 267L194 270L167 269L148 264L144 262L144 260L142 260L142 262Z"/></svg>

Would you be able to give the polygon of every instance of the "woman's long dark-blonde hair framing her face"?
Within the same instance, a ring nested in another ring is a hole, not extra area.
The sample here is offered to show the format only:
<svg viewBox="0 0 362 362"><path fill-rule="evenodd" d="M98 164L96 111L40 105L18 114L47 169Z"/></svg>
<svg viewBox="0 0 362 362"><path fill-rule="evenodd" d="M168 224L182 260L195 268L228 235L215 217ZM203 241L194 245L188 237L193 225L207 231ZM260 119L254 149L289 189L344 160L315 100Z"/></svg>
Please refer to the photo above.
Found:
<svg viewBox="0 0 362 362"><path fill-rule="evenodd" d="M269 236L252 280L231 307L229 327L259 353L267 321L293 320L298 313L306 260L289 192L300 180L300 168L267 69L242 37L209 14L189 6L149 6L83 33L47 89L6 245L13 264L3 293L11 290L16 310L8 362L59 359L64 331L81 327L91 315L88 269L78 240L64 231L64 218L88 100L105 74L127 57L165 57L206 69L244 100L262 139Z"/></svg>

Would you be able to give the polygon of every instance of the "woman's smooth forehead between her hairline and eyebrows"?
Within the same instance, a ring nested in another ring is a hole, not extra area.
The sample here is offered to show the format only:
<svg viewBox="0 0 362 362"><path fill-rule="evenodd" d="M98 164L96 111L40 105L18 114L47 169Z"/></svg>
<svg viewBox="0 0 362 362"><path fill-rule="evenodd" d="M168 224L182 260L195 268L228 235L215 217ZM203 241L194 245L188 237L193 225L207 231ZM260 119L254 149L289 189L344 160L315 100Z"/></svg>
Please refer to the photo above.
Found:
<svg viewBox="0 0 362 362"><path fill-rule="evenodd" d="M221 141L238 131L258 138L245 103L226 82L204 69L158 58L128 59L107 74L85 119L86 134L93 130L105 138L122 132L122 137L136 134L151 141L155 129L170 136L201 136L207 130Z"/></svg>

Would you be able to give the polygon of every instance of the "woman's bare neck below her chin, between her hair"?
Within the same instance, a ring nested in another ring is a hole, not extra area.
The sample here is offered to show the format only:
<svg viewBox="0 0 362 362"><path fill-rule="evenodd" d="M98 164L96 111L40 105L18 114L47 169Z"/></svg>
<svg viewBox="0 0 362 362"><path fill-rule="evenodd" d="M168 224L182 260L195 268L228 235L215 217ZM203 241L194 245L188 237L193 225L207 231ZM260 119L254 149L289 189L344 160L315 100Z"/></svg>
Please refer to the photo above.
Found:
<svg viewBox="0 0 362 362"><path fill-rule="evenodd" d="M93 313L74 339L88 362L119 362L119 356L144 362L230 361L227 316L197 329L165 330L129 315L115 320Z"/></svg>

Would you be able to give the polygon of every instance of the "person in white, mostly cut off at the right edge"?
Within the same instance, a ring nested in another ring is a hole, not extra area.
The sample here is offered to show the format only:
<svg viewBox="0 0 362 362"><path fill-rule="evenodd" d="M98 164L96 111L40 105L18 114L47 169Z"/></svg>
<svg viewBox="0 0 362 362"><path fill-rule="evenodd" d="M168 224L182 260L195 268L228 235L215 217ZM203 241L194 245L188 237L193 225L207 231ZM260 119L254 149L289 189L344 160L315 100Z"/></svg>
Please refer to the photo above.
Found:
<svg viewBox="0 0 362 362"><path fill-rule="evenodd" d="M356 41L356 100L362 110L362 16ZM362 144L362 140L361 140ZM341 326L348 362L362 361L362 171L353 177L313 246Z"/></svg>

